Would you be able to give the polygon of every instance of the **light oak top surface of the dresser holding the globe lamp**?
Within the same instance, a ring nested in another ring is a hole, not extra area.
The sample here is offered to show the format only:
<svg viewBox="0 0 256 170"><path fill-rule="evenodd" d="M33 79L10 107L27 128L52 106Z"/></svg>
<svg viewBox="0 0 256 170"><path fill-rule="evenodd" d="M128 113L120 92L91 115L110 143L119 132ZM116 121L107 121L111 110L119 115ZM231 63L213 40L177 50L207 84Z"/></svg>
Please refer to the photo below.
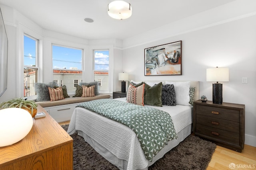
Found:
<svg viewBox="0 0 256 170"><path fill-rule="evenodd" d="M31 156L56 148L63 143L73 142L72 137L40 105L37 109L38 112L44 111L46 117L33 118L32 129L21 141L0 147L0 164L15 162L24 156Z"/></svg>

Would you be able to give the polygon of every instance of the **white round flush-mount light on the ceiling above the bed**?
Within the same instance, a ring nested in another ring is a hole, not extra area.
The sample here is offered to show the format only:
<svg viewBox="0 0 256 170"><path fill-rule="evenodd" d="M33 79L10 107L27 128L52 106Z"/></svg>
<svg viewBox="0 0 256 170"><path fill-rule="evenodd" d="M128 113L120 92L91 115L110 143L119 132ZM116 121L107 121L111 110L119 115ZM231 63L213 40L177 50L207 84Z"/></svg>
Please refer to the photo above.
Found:
<svg viewBox="0 0 256 170"><path fill-rule="evenodd" d="M132 16L132 6L122 0L116 0L108 4L108 15L116 20L125 20Z"/></svg>

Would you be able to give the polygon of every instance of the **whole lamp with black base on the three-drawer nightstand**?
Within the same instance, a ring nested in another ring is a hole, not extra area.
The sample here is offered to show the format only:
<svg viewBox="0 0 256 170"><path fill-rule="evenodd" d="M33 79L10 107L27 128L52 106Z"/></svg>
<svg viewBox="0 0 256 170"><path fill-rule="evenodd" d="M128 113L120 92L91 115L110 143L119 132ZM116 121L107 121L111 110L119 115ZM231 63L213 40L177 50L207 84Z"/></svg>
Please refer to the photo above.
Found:
<svg viewBox="0 0 256 170"><path fill-rule="evenodd" d="M212 103L222 104L222 84L219 82L229 81L228 68L207 68L206 81L216 82L212 84Z"/></svg>

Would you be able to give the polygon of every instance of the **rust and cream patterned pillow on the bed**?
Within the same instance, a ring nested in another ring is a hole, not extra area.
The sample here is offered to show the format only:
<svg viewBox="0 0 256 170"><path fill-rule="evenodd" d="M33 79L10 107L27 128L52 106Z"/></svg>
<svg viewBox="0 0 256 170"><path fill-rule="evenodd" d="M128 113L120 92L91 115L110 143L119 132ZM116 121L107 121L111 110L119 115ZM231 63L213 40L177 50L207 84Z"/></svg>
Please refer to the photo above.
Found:
<svg viewBox="0 0 256 170"><path fill-rule="evenodd" d="M127 102L144 106L144 87L145 84L142 84L138 87L134 87L130 84L126 96Z"/></svg>

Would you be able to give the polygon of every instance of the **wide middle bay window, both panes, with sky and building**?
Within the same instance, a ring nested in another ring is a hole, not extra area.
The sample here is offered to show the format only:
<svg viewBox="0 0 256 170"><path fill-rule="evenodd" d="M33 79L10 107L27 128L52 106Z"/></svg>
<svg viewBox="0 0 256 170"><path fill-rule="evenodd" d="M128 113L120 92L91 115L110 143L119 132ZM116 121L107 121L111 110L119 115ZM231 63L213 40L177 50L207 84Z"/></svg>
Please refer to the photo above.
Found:
<svg viewBox="0 0 256 170"><path fill-rule="evenodd" d="M53 80L66 85L68 93L74 93L82 81L82 54L82 49L52 45Z"/></svg>

